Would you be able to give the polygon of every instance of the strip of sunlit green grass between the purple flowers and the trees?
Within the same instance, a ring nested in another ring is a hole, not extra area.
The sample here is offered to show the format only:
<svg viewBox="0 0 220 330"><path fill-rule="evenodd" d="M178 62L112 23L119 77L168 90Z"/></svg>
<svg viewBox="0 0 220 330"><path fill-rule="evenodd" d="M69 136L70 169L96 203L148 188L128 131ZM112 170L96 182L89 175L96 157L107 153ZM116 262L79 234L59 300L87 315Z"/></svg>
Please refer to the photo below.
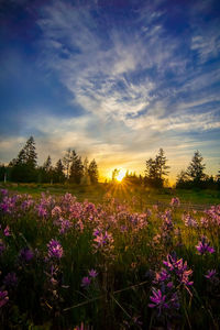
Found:
<svg viewBox="0 0 220 330"><path fill-rule="evenodd" d="M217 205L220 202L219 190L199 190L199 189L150 189L138 186L123 186L121 184L98 184L95 186L82 185L50 185L50 184L0 184L0 188L7 188L19 194L30 194L33 197L40 197L42 193L48 193L54 196L61 196L70 193L79 201L88 199L96 205L102 202L107 194L120 201L131 201L132 197L136 198L140 208L154 204L168 205L172 197L178 197L184 205Z"/></svg>

